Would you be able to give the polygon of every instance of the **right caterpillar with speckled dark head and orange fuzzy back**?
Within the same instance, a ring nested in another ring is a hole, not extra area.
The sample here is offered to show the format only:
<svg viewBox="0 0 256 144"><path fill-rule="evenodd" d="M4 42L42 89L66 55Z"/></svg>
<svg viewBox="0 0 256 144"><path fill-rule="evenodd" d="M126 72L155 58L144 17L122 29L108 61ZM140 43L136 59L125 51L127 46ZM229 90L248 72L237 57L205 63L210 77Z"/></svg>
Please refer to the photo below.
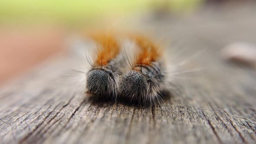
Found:
<svg viewBox="0 0 256 144"><path fill-rule="evenodd" d="M127 56L129 70L120 80L119 95L133 103L159 104L167 85L163 49L143 36L131 36L131 40L136 45L135 57L129 60Z"/></svg>

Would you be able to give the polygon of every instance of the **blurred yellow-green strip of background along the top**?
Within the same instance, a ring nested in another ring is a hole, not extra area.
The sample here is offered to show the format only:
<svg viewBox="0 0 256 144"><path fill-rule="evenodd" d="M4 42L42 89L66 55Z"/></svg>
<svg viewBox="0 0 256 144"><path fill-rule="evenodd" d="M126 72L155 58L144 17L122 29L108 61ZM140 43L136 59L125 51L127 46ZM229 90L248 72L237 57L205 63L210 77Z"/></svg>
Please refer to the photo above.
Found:
<svg viewBox="0 0 256 144"><path fill-rule="evenodd" d="M166 8L191 10L203 0L0 0L1 22L58 21L79 23Z"/></svg>

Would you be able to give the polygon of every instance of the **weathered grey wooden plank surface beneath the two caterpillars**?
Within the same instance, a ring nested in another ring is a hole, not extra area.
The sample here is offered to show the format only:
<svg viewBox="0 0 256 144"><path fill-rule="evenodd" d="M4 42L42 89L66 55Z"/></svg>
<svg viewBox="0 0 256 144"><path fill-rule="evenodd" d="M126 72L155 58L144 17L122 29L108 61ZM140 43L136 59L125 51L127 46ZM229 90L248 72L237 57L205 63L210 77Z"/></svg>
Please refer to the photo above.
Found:
<svg viewBox="0 0 256 144"><path fill-rule="evenodd" d="M41 65L0 92L0 143L256 143L256 71L220 58L232 41L256 43L256 9L207 10L145 24L185 49L176 59L204 67L176 79L179 91L155 107L90 101L57 83L72 63Z"/></svg>

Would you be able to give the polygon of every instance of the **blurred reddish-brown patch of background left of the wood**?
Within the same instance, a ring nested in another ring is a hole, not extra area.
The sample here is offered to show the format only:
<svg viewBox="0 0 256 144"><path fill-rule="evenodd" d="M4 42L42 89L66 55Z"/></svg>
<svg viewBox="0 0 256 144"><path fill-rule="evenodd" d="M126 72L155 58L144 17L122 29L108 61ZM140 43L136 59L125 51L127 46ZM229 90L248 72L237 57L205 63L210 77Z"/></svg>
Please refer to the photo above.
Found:
<svg viewBox="0 0 256 144"><path fill-rule="evenodd" d="M63 29L55 26L0 27L0 84L63 51Z"/></svg>

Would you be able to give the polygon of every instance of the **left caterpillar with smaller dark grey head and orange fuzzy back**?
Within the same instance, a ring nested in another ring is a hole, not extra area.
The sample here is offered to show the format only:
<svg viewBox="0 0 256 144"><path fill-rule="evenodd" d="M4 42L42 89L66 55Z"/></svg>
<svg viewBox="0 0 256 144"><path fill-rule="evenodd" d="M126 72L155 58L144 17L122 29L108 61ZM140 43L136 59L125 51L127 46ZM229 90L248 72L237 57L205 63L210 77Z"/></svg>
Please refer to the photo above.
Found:
<svg viewBox="0 0 256 144"><path fill-rule="evenodd" d="M89 36L97 43L97 48L92 68L86 73L86 92L98 98L115 98L122 74L119 69L123 65L120 61L121 46L112 35Z"/></svg>

